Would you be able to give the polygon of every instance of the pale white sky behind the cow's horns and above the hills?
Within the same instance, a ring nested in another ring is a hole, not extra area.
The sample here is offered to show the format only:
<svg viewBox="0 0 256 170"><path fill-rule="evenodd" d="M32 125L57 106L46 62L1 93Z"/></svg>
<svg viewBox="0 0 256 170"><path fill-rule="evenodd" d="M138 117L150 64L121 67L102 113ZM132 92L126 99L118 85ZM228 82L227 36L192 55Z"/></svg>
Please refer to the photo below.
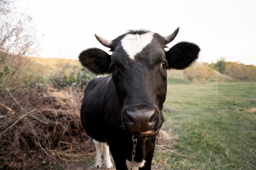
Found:
<svg viewBox="0 0 256 170"><path fill-rule="evenodd" d="M180 41L198 44L199 62L227 61L256 66L256 0L15 0L30 15L40 42L39 57L77 59L99 47L94 37L112 40L130 29L162 36L180 31Z"/></svg>

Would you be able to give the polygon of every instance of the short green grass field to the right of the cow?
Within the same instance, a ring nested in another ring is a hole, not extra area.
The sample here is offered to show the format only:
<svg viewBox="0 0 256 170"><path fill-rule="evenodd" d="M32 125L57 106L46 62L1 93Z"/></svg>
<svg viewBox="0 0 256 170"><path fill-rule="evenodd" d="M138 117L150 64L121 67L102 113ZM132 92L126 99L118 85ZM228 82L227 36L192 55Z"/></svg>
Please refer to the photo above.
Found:
<svg viewBox="0 0 256 170"><path fill-rule="evenodd" d="M190 158L155 152L162 169L255 170L256 83L171 81L164 126L179 136L171 149Z"/></svg>

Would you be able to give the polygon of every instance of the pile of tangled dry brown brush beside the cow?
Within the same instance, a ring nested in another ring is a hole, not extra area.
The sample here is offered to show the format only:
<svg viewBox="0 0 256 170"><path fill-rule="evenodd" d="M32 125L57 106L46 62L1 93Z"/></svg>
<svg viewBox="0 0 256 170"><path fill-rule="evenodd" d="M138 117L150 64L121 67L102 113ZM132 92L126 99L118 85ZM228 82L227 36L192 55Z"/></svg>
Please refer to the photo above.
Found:
<svg viewBox="0 0 256 170"><path fill-rule="evenodd" d="M48 88L0 97L0 169L36 169L92 158L79 117L83 93Z"/></svg>

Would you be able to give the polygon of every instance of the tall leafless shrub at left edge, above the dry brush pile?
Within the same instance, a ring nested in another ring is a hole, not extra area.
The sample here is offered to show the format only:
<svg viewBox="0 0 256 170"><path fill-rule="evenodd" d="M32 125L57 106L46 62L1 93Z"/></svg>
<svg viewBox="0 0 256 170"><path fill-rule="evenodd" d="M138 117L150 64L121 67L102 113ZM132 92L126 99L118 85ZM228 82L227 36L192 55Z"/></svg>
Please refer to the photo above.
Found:
<svg viewBox="0 0 256 170"><path fill-rule="evenodd" d="M31 62L38 42L31 18L16 11L10 0L0 0L0 93L29 86L32 80Z"/></svg>

